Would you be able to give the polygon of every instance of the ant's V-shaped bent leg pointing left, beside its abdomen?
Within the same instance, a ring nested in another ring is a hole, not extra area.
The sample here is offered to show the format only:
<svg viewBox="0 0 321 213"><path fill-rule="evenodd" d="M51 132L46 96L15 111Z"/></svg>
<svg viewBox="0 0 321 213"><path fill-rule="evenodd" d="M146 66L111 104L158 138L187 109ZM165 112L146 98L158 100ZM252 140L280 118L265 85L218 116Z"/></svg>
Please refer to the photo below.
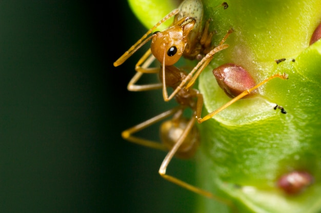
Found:
<svg viewBox="0 0 321 213"><path fill-rule="evenodd" d="M177 112L178 110L181 110L182 107L175 107L173 109L170 109L168 111L165 111L163 113L160 113L159 115L156 115L155 117L152 117L151 119L138 124L136 126L133 126L125 131L122 132L122 137L132 143L138 144L138 145L142 145L142 146L146 146L146 147L150 147L153 149L159 149L159 150L164 150L166 151L166 147L163 144L157 143L155 141L151 141L151 140L147 140L147 139L143 139L140 137L135 137L132 136L132 134L134 134L135 132L139 132L143 129L145 129L146 127L149 127L163 119L165 119L166 117L169 117L170 115L174 114L175 112Z"/></svg>

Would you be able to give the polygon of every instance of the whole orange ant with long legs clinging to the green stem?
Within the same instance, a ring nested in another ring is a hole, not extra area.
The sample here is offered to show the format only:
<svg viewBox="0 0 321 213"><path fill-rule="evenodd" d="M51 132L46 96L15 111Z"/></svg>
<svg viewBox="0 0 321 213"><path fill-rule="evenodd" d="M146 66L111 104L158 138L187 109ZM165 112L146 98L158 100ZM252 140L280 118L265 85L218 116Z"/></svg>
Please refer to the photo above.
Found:
<svg viewBox="0 0 321 213"><path fill-rule="evenodd" d="M186 4L187 2L189 2L189 0L185 0L183 3ZM192 5L196 4L197 2L198 1L193 1ZM184 5L183 3L182 5ZM202 6L202 3L200 4ZM219 45L216 48L212 49L212 47L210 46L212 34L208 33L209 21L206 22L204 32L202 36L200 36L200 39L198 39L199 36L196 35L198 35L199 31L192 31L193 28L195 28L195 24L197 23L196 19L191 16L186 16L186 13L182 12L182 8L184 8L186 5L184 7L182 5L178 9L175 9L171 13L169 13L161 21L159 21L151 30L149 30L141 39L139 39L129 49L129 51L127 51L121 58L119 58L114 63L115 66L122 64L134 52L141 48L141 46L143 46L146 42L152 39L151 48L136 64L135 69L137 71L137 74L131 79L130 83L128 84L128 89L132 91L142 91L163 88L164 100L168 101L174 97L175 100L178 102L179 106L170 109L166 112L163 112L141 124L138 124L132 128L123 131L122 136L124 139L132 141L136 144L160 150L169 150L168 154L164 158L159 168L159 174L163 178L197 194L204 195L215 200L220 200L228 205L231 205L229 201L225 201L223 199L215 197L210 192L204 191L173 176L167 175L166 169L168 167L168 164L174 157L174 155L180 158L191 158L194 155L199 145L198 130L196 126L194 126L195 121L198 121L198 123L202 123L203 121L214 116L219 111L222 111L224 108L234 103L238 99L243 98L247 94L250 94L257 87L263 85L270 79L275 77L286 78L286 76L275 75L269 79L266 79L258 85L251 85L251 88L247 88L244 92L240 92L240 94L237 94L237 96L234 99L232 99L232 101L229 102L228 105L219 108L218 111L210 113L209 115L205 116L204 119L201 119L200 115L202 113L203 108L203 96L201 93L199 93L198 90L194 88L190 89L190 87L193 86L199 74L209 64L213 55L228 47L227 44L223 43L225 42L229 34L233 32L233 30L230 29L226 36L219 43ZM173 15L175 15L175 19L178 19L179 16L177 14L180 14L180 16L184 17L180 18L178 21L174 21L173 26L168 28L167 30L154 33L149 38L146 38L161 23L163 23L165 20L172 17ZM191 12L189 11L188 14L191 14ZM203 15L203 12L200 14ZM169 33L173 34L170 34L171 36L169 36ZM175 33L177 33L179 36L184 35L184 37L175 38ZM193 36L189 37L188 35ZM177 40L174 40L174 38ZM194 40L189 40L191 38L193 38ZM166 42L159 43L159 39L165 39ZM177 46L173 48L173 44L177 44L179 50L177 50ZM203 54L206 55L203 57ZM187 74L182 69L179 69L173 65L181 56L190 59L202 59L192 69L192 71L189 74ZM155 58L157 58L157 60L162 63L162 72L159 72L159 68L149 67L149 65L154 61ZM141 76L144 73L159 73L159 78L162 82L159 84L135 85L135 83L138 81L139 78L141 78ZM194 73L195 75L193 76ZM188 84L184 87L184 85L187 82ZM173 89L173 93L170 96L168 96L167 94L166 87L172 87ZM184 111L188 108L192 110L192 117L190 119L186 119L183 117ZM169 116L172 116L172 119L164 122L160 127L160 137L162 139L163 144L133 136L134 133L141 131L159 121L162 121Z"/></svg>

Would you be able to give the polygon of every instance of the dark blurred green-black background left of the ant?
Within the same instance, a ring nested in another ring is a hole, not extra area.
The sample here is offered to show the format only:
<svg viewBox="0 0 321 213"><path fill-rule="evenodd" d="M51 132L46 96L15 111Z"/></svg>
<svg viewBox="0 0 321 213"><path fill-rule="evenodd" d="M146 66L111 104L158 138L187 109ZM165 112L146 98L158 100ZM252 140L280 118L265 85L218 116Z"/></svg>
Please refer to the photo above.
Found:
<svg viewBox="0 0 321 213"><path fill-rule="evenodd" d="M193 212L197 196L158 175L166 153L121 137L172 107L127 90L143 52L112 65L146 32L127 1L2 1L0 28L0 212Z"/></svg>

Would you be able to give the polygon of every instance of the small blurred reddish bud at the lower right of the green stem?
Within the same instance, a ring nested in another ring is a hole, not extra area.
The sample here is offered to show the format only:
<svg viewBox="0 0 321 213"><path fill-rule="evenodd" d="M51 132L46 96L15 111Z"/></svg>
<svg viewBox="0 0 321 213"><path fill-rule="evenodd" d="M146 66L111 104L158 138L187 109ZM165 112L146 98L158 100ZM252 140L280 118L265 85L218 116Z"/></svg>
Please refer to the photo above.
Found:
<svg viewBox="0 0 321 213"><path fill-rule="evenodd" d="M302 193L314 181L313 176L304 171L293 171L281 176L277 186L288 195Z"/></svg>

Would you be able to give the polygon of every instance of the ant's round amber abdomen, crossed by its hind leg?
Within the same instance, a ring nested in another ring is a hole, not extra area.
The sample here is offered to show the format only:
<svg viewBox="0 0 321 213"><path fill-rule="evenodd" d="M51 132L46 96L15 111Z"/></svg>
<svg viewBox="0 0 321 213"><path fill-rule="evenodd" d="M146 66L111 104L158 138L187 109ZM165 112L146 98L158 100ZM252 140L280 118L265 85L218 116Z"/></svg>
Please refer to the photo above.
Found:
<svg viewBox="0 0 321 213"><path fill-rule="evenodd" d="M189 120L179 118L178 120L169 120L162 123L160 126L160 138L162 143L170 150L178 139L182 136ZM188 132L184 138L182 145L180 145L175 156L183 159L191 158L199 145L199 133L196 126Z"/></svg>

